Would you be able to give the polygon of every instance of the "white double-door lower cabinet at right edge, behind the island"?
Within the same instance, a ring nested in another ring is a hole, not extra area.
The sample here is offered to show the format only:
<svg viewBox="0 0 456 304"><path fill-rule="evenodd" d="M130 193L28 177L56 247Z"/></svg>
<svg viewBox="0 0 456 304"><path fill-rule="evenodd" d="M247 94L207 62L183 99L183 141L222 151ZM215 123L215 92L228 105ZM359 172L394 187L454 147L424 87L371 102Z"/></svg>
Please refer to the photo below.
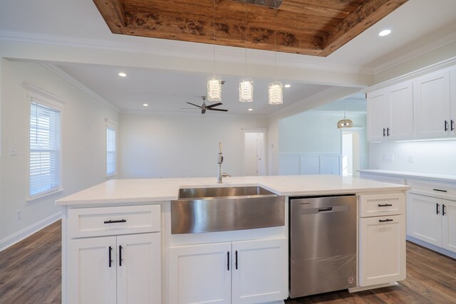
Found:
<svg viewBox="0 0 456 304"><path fill-rule="evenodd" d="M456 201L408 195L407 234L456 253Z"/></svg>

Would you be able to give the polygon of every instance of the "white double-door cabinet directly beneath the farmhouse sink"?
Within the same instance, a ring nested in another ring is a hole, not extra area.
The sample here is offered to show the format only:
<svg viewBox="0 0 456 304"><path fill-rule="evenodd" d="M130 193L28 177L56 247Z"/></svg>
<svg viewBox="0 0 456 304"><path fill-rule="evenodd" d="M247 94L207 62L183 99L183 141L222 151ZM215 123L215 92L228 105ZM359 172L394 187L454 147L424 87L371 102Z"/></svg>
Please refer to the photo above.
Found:
<svg viewBox="0 0 456 304"><path fill-rule="evenodd" d="M170 248L170 303L264 303L288 296L286 239Z"/></svg>

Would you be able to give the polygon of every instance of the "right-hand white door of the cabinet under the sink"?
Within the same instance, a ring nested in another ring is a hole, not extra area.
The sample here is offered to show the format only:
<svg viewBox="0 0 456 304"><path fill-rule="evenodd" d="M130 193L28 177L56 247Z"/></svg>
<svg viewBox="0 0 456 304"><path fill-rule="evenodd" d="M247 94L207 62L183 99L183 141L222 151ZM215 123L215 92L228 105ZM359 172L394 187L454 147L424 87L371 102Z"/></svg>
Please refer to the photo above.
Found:
<svg viewBox="0 0 456 304"><path fill-rule="evenodd" d="M288 297L286 239L232 243L232 303L249 304Z"/></svg>

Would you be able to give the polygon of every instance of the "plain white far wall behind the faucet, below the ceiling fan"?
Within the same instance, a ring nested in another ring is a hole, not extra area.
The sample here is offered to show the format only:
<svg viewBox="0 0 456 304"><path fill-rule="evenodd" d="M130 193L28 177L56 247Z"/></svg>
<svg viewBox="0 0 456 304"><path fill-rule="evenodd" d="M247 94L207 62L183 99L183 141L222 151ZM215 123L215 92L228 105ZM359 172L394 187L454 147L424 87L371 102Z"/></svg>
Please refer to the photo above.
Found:
<svg viewBox="0 0 456 304"><path fill-rule="evenodd" d="M120 177L217 177L219 142L223 171L244 175L244 129L267 127L250 115L120 115Z"/></svg>

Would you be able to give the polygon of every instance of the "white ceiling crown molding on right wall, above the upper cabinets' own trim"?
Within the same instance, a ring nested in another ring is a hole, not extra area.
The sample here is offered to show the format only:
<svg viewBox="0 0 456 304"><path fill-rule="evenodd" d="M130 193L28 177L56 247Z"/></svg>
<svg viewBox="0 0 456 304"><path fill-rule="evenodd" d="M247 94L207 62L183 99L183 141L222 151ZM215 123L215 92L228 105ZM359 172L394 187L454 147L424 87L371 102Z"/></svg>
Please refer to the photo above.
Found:
<svg viewBox="0 0 456 304"><path fill-rule="evenodd" d="M426 53L430 53L432 51L437 50L438 48L447 46L448 44L453 43L455 41L456 41L456 31L449 33L446 36L441 37L435 41L432 41L432 43L427 43L426 45L421 46L420 48L415 48L415 49L413 49L413 51L404 53L403 55L396 57L392 61L388 61L387 63L383 63L383 64L375 66L375 68L373 68L373 73L374 74L382 73L385 70L389 70L390 68L394 68L397 65L406 63L407 61L411 61L415 58L425 55Z"/></svg>

